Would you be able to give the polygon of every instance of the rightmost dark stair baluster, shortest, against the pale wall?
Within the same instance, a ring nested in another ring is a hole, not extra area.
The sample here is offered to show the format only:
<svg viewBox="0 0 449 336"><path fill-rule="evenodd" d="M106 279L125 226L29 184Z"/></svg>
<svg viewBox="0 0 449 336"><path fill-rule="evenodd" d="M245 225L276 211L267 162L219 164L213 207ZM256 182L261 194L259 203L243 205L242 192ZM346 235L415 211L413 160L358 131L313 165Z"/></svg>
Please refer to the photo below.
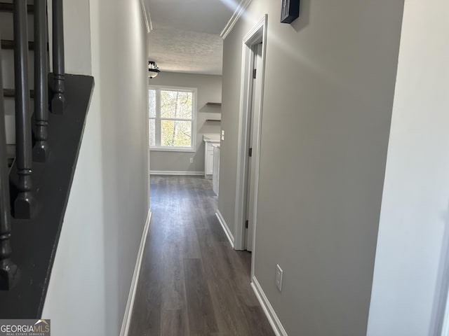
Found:
<svg viewBox="0 0 449 336"><path fill-rule="evenodd" d="M63 25L62 0L52 1L53 18L53 99L51 112L64 113L64 25Z"/></svg>

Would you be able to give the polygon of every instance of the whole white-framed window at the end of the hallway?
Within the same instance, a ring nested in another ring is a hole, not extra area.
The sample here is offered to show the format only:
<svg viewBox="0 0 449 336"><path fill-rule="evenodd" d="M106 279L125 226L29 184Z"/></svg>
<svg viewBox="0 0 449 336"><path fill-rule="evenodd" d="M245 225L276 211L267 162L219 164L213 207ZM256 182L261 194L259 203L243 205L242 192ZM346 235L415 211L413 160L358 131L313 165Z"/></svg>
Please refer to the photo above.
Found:
<svg viewBox="0 0 449 336"><path fill-rule="evenodd" d="M195 151L196 89L150 86L149 148Z"/></svg>

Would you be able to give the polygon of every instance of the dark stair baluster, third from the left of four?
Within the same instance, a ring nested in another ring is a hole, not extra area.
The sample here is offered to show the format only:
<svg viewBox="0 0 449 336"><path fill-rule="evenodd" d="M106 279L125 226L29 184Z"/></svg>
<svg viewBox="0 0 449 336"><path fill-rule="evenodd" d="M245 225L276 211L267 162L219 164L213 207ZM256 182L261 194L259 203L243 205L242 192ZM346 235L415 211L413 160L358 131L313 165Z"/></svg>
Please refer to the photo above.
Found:
<svg viewBox="0 0 449 336"><path fill-rule="evenodd" d="M46 0L34 0L34 139L33 160L48 159L48 67Z"/></svg>

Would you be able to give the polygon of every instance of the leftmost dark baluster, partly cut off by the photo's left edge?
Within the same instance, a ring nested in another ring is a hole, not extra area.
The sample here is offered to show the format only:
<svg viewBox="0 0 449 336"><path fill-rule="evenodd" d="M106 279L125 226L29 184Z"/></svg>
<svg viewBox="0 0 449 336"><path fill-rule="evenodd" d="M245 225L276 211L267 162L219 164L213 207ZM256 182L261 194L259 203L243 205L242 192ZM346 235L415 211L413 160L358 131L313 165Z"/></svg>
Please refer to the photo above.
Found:
<svg viewBox="0 0 449 336"><path fill-rule="evenodd" d="M6 160L6 130L2 78L0 66L0 290L8 290L14 286L18 276L18 268L11 261L11 204L9 201L8 163Z"/></svg>

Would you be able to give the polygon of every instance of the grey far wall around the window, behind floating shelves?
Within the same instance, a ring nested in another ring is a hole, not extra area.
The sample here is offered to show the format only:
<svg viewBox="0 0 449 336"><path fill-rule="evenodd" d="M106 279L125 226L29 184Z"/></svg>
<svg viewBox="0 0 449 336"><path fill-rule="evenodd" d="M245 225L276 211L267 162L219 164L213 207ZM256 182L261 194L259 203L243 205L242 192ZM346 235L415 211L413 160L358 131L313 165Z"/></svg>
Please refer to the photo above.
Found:
<svg viewBox="0 0 449 336"><path fill-rule="evenodd" d="M151 34L151 33L150 33ZM148 78L149 85L168 85L180 87L196 87L198 89L196 113L196 152L163 152L152 151L152 171L203 172L204 142L203 134L220 133L220 123L206 119L220 119L221 109L217 106L207 106L207 102L222 101L222 77L200 75L194 73L159 73L156 78ZM190 163L190 158L194 159Z"/></svg>

